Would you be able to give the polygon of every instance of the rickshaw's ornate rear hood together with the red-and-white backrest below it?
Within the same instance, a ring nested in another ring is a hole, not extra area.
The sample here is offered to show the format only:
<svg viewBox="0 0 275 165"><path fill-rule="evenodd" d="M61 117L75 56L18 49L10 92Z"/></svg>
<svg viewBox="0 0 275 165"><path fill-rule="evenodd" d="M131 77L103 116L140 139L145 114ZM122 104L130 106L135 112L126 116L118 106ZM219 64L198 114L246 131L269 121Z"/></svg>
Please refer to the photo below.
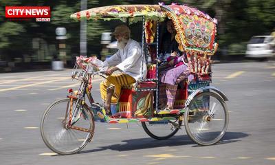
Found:
<svg viewBox="0 0 275 165"><path fill-rule="evenodd" d="M214 42L217 29L215 19L186 5L164 5L168 19L173 21L179 50L186 52L190 72L205 75L210 72L211 56L217 50Z"/></svg>

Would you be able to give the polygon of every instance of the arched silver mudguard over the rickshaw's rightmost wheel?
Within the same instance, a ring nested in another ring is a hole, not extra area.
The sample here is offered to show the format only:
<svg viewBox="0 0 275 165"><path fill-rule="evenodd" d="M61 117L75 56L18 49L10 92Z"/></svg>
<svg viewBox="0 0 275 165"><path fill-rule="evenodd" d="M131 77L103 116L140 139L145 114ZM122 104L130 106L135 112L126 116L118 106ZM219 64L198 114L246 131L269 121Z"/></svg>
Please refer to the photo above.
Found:
<svg viewBox="0 0 275 165"><path fill-rule="evenodd" d="M228 98L225 96L225 94L223 94L222 91L220 91L216 87L210 87L210 86L208 86L208 87L201 87L201 88L195 90L194 92L192 92L192 94L190 94L190 96L188 96L188 98L186 100L185 107L188 107L188 105L190 104L190 102L192 101L192 99L195 98L195 96L197 96L198 94L201 94L205 90L215 91L217 94L219 94L219 96L221 96L221 98L223 98L224 101L228 101Z"/></svg>

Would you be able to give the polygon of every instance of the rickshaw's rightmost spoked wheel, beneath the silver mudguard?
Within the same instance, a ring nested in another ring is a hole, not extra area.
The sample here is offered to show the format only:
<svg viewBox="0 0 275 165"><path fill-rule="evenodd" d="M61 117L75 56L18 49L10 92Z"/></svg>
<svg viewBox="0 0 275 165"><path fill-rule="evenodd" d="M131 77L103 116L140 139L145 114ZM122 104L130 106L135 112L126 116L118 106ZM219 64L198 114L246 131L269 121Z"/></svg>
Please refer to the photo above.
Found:
<svg viewBox="0 0 275 165"><path fill-rule="evenodd" d="M188 136L199 145L219 142L228 128L228 109L218 94L203 92L192 99L184 115Z"/></svg>

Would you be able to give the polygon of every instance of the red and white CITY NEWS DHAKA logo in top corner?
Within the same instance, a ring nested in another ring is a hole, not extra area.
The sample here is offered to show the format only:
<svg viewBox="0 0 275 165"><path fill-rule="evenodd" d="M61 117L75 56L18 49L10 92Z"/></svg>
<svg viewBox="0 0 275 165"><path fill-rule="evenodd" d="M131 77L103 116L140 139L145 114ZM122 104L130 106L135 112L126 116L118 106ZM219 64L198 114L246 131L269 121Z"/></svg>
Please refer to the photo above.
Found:
<svg viewBox="0 0 275 165"><path fill-rule="evenodd" d="M5 18L30 19L36 21L51 21L50 6L5 6Z"/></svg>

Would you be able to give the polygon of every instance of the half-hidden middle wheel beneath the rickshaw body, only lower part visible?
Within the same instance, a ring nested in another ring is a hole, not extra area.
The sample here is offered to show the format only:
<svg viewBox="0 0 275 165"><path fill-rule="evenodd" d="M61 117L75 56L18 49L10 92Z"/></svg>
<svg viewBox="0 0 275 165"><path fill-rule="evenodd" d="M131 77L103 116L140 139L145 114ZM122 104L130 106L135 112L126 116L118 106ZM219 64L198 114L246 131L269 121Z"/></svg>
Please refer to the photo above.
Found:
<svg viewBox="0 0 275 165"><path fill-rule="evenodd" d="M179 131L182 120L142 122L144 131L156 140L166 140Z"/></svg>

